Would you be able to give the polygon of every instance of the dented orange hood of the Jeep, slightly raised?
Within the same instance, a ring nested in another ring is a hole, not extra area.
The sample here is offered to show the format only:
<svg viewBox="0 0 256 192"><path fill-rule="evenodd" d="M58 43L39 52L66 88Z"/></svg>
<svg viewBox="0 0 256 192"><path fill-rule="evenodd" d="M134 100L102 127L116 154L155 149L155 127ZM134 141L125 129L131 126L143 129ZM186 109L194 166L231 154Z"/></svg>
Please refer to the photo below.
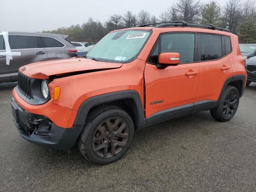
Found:
<svg viewBox="0 0 256 192"><path fill-rule="evenodd" d="M34 79L49 79L50 76L120 68L122 63L98 62L85 58L69 58L42 61L22 66L19 71Z"/></svg>

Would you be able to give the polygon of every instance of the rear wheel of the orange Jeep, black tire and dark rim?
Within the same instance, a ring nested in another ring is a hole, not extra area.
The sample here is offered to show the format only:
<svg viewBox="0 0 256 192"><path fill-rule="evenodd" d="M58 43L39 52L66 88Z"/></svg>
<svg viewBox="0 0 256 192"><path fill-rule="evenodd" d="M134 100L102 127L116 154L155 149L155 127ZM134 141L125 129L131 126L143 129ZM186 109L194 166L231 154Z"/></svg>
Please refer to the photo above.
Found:
<svg viewBox="0 0 256 192"><path fill-rule="evenodd" d="M220 96L218 106L210 110L212 117L221 122L229 121L236 114L239 105L239 98L240 95L237 88L227 86Z"/></svg>

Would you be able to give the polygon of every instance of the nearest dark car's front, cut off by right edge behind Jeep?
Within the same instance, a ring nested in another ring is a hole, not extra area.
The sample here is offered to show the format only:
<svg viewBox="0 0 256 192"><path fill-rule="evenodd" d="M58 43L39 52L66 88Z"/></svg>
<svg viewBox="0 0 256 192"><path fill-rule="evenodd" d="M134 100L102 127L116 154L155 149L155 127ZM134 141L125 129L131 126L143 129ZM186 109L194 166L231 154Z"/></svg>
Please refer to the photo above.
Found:
<svg viewBox="0 0 256 192"><path fill-rule="evenodd" d="M246 72L248 75L246 85L256 82L256 56L246 60Z"/></svg>

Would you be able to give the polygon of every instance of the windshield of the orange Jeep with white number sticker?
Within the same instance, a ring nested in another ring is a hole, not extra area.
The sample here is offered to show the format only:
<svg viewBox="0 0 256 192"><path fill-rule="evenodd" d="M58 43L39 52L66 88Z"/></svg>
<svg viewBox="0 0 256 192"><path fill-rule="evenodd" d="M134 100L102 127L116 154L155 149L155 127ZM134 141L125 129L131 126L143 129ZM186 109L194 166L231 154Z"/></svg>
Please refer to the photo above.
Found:
<svg viewBox="0 0 256 192"><path fill-rule="evenodd" d="M123 30L107 34L98 42L86 58L128 63L134 60L146 44L150 31Z"/></svg>

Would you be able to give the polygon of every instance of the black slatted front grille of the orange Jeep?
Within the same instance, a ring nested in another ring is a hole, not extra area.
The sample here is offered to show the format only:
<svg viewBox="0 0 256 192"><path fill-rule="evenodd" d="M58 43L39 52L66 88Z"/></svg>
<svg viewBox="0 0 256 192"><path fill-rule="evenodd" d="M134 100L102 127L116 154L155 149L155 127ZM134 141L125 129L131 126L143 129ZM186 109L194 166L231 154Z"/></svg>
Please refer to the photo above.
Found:
<svg viewBox="0 0 256 192"><path fill-rule="evenodd" d="M25 76L22 73L18 73L18 88L29 99L31 98L31 78Z"/></svg>

